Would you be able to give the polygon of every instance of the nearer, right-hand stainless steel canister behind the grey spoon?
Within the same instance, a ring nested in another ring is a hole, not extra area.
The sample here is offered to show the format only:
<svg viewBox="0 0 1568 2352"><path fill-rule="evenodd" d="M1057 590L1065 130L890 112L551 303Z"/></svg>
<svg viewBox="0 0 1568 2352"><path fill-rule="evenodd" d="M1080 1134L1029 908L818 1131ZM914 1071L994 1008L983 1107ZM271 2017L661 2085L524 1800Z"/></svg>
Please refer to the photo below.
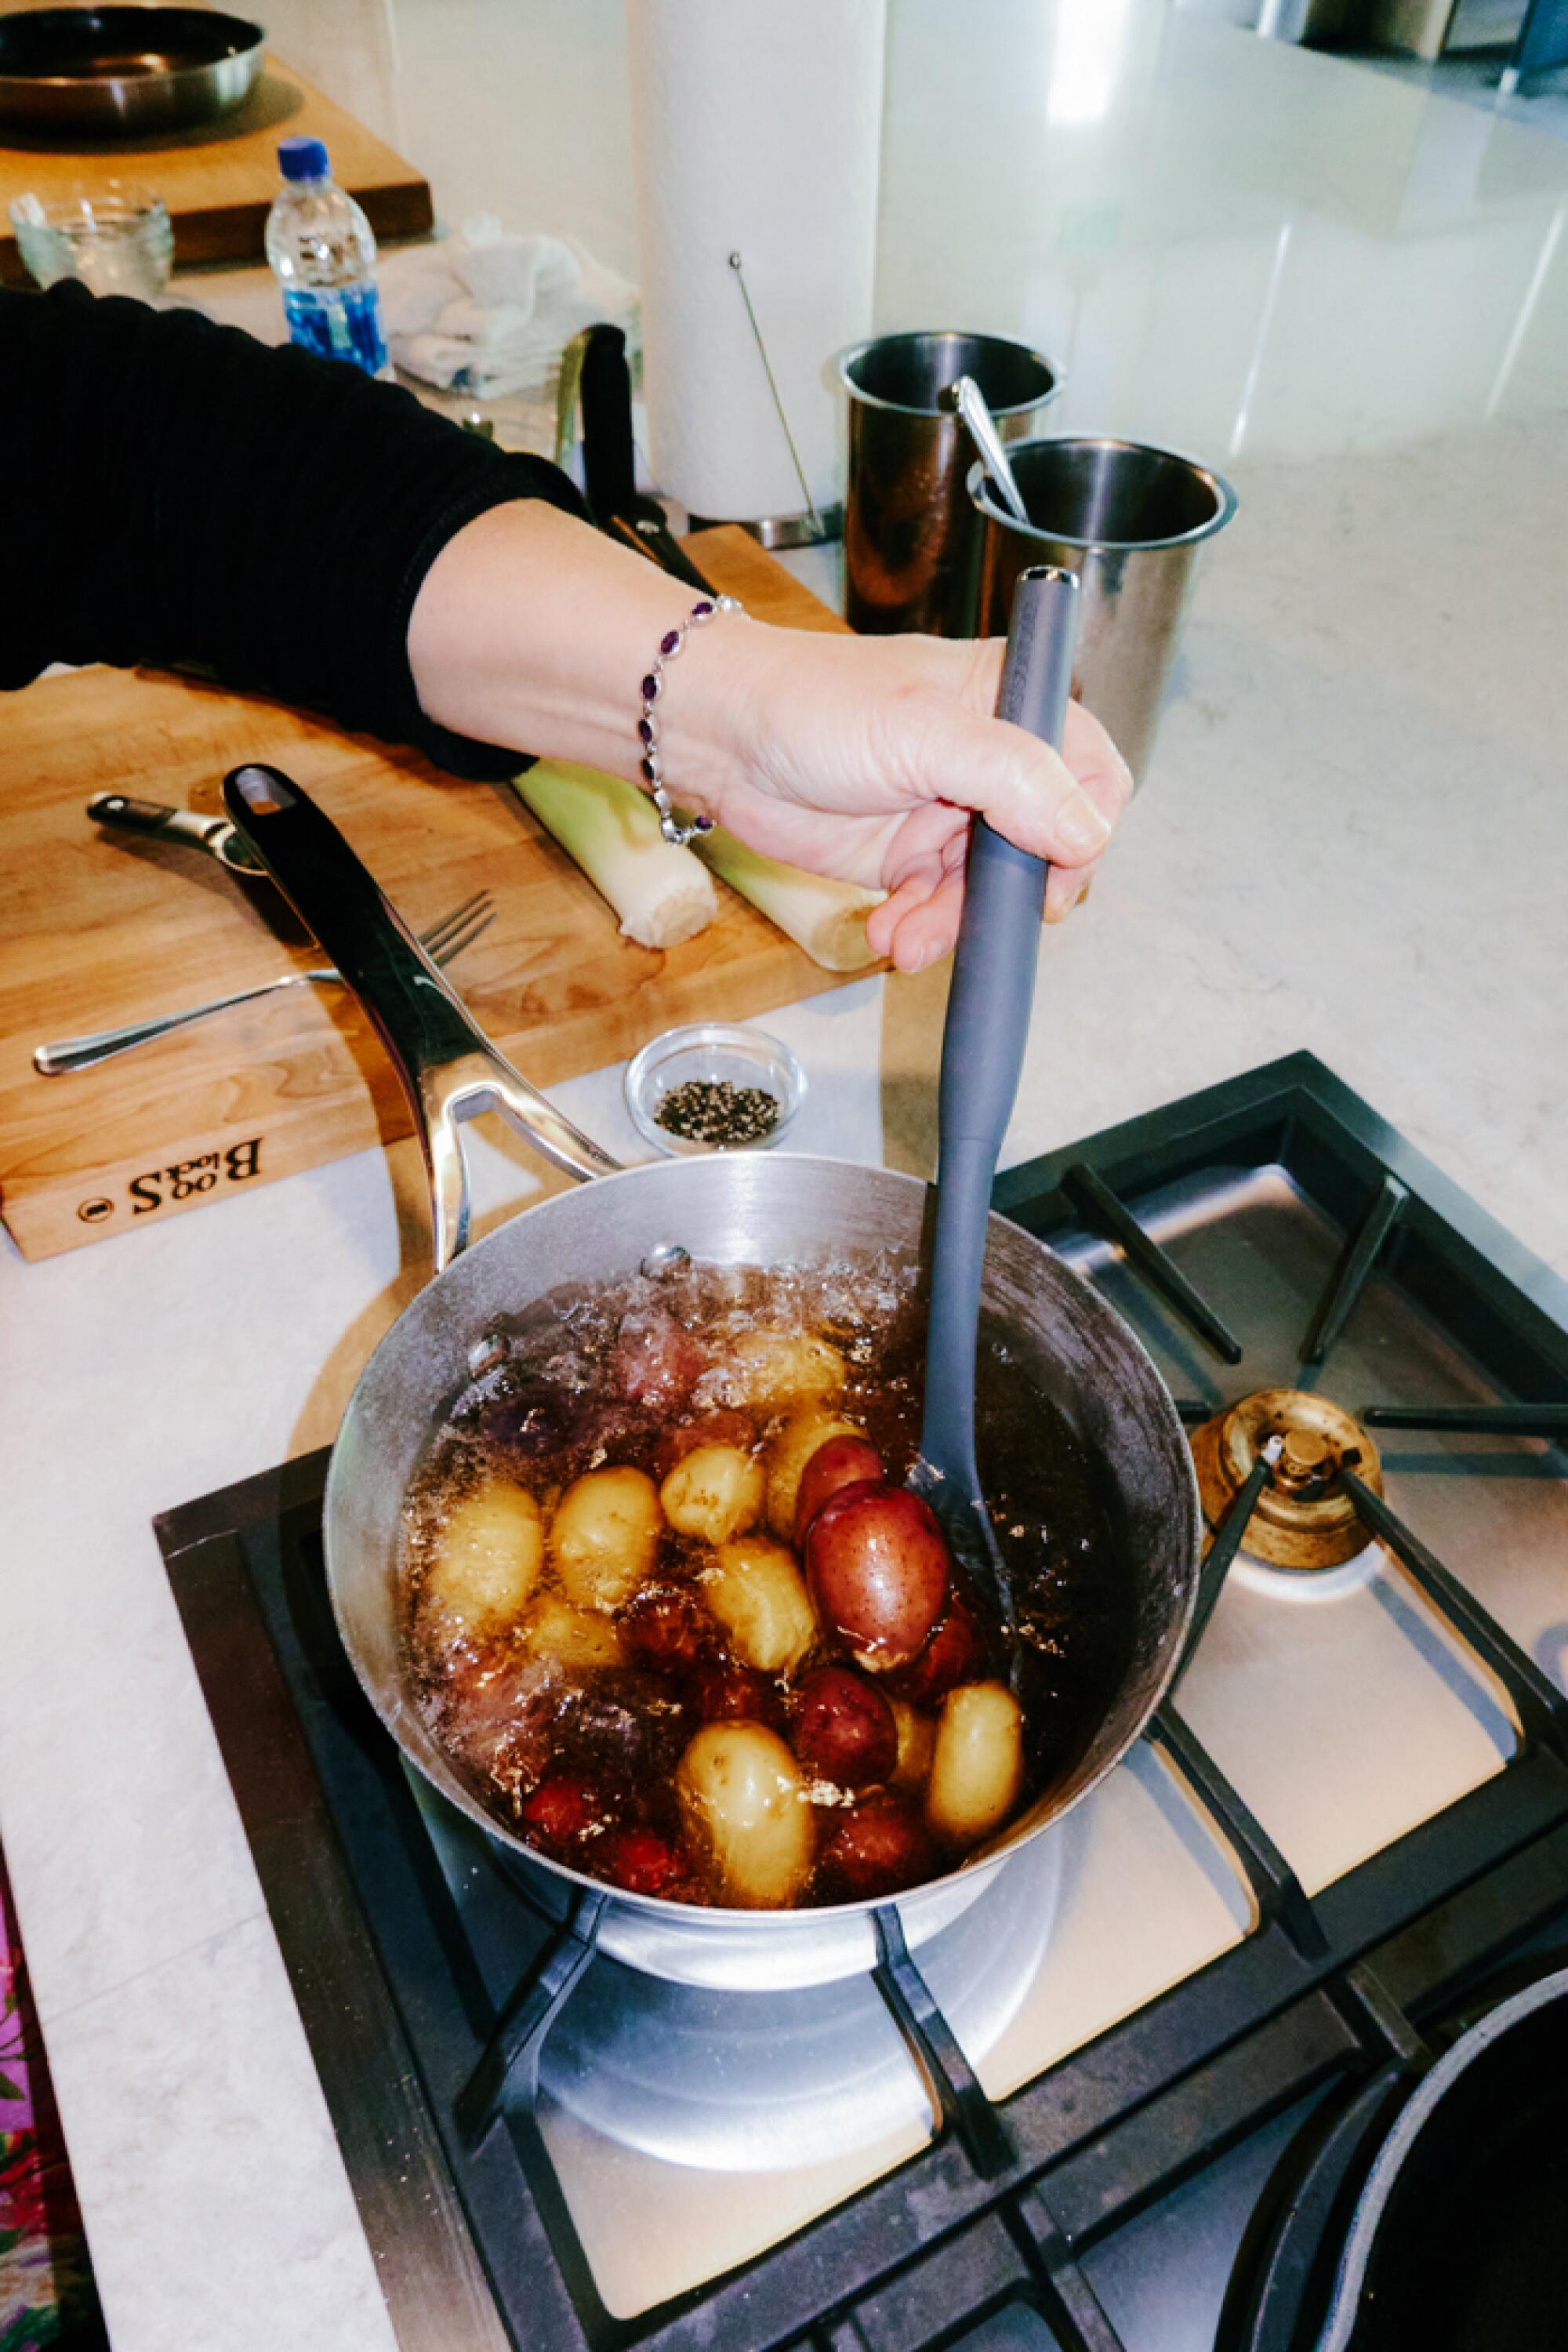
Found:
<svg viewBox="0 0 1568 2352"><path fill-rule="evenodd" d="M1013 581L1067 564L1084 581L1072 691L1112 731L1143 783L1175 668L1197 553L1237 513L1208 466L1119 440L1034 440L1009 449L1032 529L999 503L980 466L969 496L983 517L978 633L1006 635Z"/></svg>

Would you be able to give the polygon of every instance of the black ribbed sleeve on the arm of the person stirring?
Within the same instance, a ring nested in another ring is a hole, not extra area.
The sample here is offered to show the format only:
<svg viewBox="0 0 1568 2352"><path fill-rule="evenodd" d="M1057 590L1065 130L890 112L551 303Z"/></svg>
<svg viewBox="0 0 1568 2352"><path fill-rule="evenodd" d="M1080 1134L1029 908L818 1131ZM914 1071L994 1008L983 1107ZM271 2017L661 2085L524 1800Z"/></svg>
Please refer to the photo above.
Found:
<svg viewBox="0 0 1568 2352"><path fill-rule="evenodd" d="M0 687L49 661L188 661L456 776L520 767L423 715L407 635L475 515L583 513L543 459L341 360L59 285L0 289Z"/></svg>

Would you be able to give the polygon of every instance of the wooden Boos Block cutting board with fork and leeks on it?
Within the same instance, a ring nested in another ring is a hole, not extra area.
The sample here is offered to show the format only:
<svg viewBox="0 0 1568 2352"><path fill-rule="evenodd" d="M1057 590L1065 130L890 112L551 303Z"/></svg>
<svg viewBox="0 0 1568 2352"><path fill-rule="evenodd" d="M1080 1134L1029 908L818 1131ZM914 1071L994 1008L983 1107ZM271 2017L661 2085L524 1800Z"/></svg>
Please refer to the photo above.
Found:
<svg viewBox="0 0 1568 2352"><path fill-rule="evenodd" d="M703 532L693 555L762 619L844 626L745 532ZM842 983L724 887L698 938L635 948L505 786L454 783L414 753L179 677L42 680L5 696L0 729L0 1216L26 1258L409 1134L393 1070L339 988L289 988L94 1070L33 1070L45 1040L322 962L268 882L85 814L101 790L219 809L242 760L317 793L416 929L494 891L496 922L451 978L536 1084L679 1021L738 1021Z"/></svg>

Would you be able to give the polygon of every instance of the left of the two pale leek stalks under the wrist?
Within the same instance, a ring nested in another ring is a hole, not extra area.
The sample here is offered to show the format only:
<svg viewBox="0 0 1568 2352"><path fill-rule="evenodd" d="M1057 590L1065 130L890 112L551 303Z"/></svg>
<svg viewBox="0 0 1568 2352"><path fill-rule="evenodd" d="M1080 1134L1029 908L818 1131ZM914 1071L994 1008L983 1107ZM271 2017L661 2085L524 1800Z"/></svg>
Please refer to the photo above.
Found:
<svg viewBox="0 0 1568 2352"><path fill-rule="evenodd" d="M614 908L639 948L679 948L719 910L712 877L658 830L646 793L567 760L538 760L512 786Z"/></svg>

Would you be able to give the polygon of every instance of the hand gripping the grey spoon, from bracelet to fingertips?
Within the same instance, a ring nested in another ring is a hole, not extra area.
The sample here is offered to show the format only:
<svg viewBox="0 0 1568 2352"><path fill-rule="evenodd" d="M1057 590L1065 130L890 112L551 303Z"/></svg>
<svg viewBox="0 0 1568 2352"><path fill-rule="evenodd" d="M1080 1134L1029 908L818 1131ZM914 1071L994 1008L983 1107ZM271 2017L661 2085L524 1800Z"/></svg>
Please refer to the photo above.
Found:
<svg viewBox="0 0 1568 2352"><path fill-rule="evenodd" d="M708 811L752 849L886 889L867 936L900 971L922 971L959 936L971 809L1051 861L1046 922L1088 894L1133 779L1079 703L1060 757L994 717L999 637L722 623L693 637L689 654L717 673L741 654L736 628L750 640L731 720L736 757ZM698 661L684 684L696 684ZM670 771L679 774L675 762Z"/></svg>

